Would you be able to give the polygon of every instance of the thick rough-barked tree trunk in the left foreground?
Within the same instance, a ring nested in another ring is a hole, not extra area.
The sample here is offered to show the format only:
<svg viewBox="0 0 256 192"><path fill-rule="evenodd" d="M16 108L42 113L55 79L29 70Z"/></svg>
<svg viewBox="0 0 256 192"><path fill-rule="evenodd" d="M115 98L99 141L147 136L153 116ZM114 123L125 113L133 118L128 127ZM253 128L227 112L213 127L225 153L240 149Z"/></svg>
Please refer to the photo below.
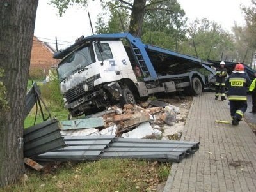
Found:
<svg viewBox="0 0 256 192"><path fill-rule="evenodd" d="M0 1L0 188L24 174L23 111L37 4Z"/></svg>

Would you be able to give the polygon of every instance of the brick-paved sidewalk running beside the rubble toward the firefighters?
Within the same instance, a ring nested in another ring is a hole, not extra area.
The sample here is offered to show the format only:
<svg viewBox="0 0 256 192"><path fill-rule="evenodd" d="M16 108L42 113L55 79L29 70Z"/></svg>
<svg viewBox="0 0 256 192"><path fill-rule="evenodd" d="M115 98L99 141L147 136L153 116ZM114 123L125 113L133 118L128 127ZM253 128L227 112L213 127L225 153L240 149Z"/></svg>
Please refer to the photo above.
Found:
<svg viewBox="0 0 256 192"><path fill-rule="evenodd" d="M248 108L248 110L250 110ZM231 121L228 101L213 92L193 98L182 140L199 141L195 154L173 163L164 191L256 191L256 136Z"/></svg>

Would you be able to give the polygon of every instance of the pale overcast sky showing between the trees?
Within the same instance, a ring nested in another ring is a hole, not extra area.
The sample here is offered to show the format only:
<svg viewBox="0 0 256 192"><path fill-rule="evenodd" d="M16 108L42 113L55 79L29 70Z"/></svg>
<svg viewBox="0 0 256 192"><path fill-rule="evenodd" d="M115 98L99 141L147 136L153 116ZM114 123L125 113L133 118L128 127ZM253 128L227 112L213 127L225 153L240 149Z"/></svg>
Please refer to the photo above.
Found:
<svg viewBox="0 0 256 192"><path fill-rule="evenodd" d="M189 22L196 18L207 18L208 20L221 24L223 29L231 31L231 27L236 22L239 26L244 26L244 15L241 12L240 4L250 6L251 0L177 0L181 8L185 11ZM91 3L86 10L75 6L69 8L63 17L58 16L58 9L47 4L49 0L39 0L35 36L40 40L51 43L55 48L55 37L58 40L58 48L65 48L74 43L80 36L92 35L92 26L95 27L97 15L101 11L99 2Z"/></svg>

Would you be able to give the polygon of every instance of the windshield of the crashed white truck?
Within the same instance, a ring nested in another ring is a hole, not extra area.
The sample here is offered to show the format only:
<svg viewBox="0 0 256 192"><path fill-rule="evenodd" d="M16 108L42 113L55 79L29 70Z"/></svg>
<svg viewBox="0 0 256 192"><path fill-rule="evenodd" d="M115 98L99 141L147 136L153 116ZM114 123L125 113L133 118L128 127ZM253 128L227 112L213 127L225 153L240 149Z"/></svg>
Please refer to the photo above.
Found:
<svg viewBox="0 0 256 192"><path fill-rule="evenodd" d="M67 78L69 75L76 73L76 71L85 68L89 64L95 62L92 57L92 48L90 44L86 44L85 47L79 48L72 54L68 55L65 59L58 64L58 74L60 81Z"/></svg>

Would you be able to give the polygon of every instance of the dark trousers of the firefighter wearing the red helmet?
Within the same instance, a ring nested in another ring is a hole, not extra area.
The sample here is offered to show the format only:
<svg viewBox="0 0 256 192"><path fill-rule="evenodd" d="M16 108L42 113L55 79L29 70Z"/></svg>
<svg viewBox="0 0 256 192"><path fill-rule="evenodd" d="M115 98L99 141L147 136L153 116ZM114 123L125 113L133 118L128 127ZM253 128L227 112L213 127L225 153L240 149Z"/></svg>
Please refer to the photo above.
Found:
<svg viewBox="0 0 256 192"><path fill-rule="evenodd" d="M247 101L230 101L230 114L231 117L236 117L241 121L247 109Z"/></svg>

